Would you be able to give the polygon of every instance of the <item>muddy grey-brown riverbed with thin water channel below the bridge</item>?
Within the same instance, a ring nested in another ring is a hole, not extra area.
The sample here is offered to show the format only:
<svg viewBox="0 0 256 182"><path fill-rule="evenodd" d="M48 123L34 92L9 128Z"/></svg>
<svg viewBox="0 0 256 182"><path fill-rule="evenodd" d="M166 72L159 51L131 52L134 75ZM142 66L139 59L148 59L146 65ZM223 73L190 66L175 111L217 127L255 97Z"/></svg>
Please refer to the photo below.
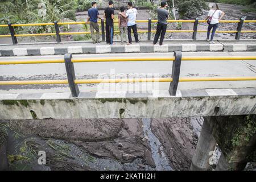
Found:
<svg viewBox="0 0 256 182"><path fill-rule="evenodd" d="M35 119L2 121L0 127L8 135L11 170L188 170L202 123L202 118ZM38 164L39 151L46 152L46 165Z"/></svg>

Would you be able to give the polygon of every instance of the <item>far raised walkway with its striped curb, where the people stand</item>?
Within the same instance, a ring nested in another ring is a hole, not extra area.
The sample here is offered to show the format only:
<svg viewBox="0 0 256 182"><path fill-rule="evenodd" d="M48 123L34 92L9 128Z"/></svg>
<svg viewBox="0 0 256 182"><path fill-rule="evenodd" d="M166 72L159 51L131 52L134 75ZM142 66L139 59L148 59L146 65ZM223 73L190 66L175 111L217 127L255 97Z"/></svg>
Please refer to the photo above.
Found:
<svg viewBox="0 0 256 182"><path fill-rule="evenodd" d="M64 55L65 53L127 53L127 52L174 52L174 51L256 51L253 39L247 40L214 40L209 44L205 40L164 40L164 44L153 46L152 41L141 41L127 46L116 42L110 46L105 42L44 42L24 44L0 44L0 56L27 55ZM1 43L1 42L0 42Z"/></svg>

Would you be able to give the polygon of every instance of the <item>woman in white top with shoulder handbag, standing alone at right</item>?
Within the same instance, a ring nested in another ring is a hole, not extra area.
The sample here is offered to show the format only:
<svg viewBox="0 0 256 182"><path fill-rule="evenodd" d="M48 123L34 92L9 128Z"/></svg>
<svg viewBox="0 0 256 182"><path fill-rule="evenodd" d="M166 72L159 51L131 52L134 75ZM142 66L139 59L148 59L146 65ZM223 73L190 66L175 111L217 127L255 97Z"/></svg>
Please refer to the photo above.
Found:
<svg viewBox="0 0 256 182"><path fill-rule="evenodd" d="M221 20L224 15L225 13L220 9L218 9L217 3L214 3L212 6L212 9L210 9L208 13L207 19L205 19L209 24L208 30L207 30L207 41L210 41L210 44L214 44L213 37L218 28L218 21ZM212 30L212 36L210 36L210 30ZM210 40L209 40L209 36L210 36Z"/></svg>

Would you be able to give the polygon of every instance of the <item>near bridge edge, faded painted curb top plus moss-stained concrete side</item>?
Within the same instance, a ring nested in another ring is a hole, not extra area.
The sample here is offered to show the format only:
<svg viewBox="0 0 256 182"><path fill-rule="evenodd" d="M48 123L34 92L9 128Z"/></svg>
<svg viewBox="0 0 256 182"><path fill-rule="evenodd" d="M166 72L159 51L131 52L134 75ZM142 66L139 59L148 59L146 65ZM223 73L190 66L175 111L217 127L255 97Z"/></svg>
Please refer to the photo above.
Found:
<svg viewBox="0 0 256 182"><path fill-rule="evenodd" d="M256 114L256 88L151 93L0 94L0 119L170 118Z"/></svg>

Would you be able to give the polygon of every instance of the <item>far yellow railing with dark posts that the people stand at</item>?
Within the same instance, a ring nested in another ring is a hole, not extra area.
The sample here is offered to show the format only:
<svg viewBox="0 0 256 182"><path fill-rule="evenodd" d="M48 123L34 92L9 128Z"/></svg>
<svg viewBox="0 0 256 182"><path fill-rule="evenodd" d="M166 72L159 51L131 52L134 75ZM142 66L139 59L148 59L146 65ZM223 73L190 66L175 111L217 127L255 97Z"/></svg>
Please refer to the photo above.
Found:
<svg viewBox="0 0 256 182"><path fill-rule="evenodd" d="M117 23L117 20L114 20L114 23ZM137 20L137 23L148 23L147 30L138 30L138 33L147 33L147 40L151 40L151 33L156 32L155 30L151 30L152 23L158 22L158 20ZM193 30L167 30L166 32L192 32L192 39L196 40L197 32L207 32L207 30L197 30L198 23L205 23L206 20L199 20L198 18L194 20L167 20L168 23L174 22L185 22L185 23L193 23ZM102 41L105 41L105 24L104 20L98 22L101 24L101 32ZM217 33L236 33L235 39L239 40L241 33L255 32L256 30L242 30L243 23L256 23L256 20L245 20L245 17L240 18L240 20L220 20L220 23L238 23L236 30L220 30L216 31ZM79 34L90 34L90 31L83 32L60 32L59 26L65 24L88 24L88 22L53 22L53 23L27 23L27 24L0 24L0 27L9 27L10 35L0 35L1 37L11 37L13 40L13 44L17 44L17 37L19 36L56 36L56 42L61 42L61 35L79 35ZM22 27L22 26L55 26L55 33L44 33L44 34L15 34L14 27ZM114 33L119 33L119 31L114 31Z"/></svg>

